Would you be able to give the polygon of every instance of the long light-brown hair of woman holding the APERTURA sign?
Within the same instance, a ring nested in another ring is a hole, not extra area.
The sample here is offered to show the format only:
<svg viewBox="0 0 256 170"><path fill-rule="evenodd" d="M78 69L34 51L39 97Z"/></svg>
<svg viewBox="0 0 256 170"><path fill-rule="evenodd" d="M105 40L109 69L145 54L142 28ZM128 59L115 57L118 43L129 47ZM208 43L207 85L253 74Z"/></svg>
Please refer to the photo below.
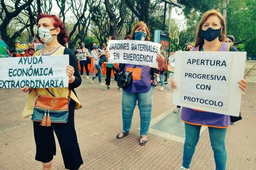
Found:
<svg viewBox="0 0 256 170"><path fill-rule="evenodd" d="M201 18L201 20L200 20L200 22L198 24L197 36L196 36L196 45L195 46L203 45L204 44L204 39L203 39L203 37L201 35L201 33L202 33L202 26L206 22L206 20L208 20L208 18L210 16L217 16L221 20L222 31L221 31L221 35L218 37L218 39L220 41L222 41L222 42L225 41L226 28L225 28L224 18L221 15L220 12L218 12L215 9L211 9L211 10L209 10L209 11L204 13L204 15L202 16L202 18Z"/></svg>

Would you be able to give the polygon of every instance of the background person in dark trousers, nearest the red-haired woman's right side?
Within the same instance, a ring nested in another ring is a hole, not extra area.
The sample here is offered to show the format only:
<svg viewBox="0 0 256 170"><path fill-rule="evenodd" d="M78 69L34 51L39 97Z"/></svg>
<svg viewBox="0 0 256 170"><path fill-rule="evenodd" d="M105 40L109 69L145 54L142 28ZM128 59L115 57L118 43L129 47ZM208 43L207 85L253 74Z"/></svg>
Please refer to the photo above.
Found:
<svg viewBox="0 0 256 170"><path fill-rule="evenodd" d="M81 59L79 60L80 62L80 66L81 66L81 78L83 78L83 67L86 68L86 79L89 79L89 69L88 69L88 62L87 60L89 59L90 53L88 51L88 49L86 48L86 44L84 42L81 42L81 46L79 49L79 53L80 55L82 55Z"/></svg>

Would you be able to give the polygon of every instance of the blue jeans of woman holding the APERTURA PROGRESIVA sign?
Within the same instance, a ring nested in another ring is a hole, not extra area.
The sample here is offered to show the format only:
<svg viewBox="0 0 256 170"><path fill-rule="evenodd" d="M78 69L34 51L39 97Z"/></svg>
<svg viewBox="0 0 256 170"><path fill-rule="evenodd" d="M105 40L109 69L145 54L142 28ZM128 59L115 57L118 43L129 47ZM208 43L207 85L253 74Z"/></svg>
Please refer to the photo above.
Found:
<svg viewBox="0 0 256 170"><path fill-rule="evenodd" d="M194 150L196 149L197 142L199 140L200 129L200 125L192 125L185 123L186 138L184 143L182 162L182 166L184 168L190 168L192 156L194 154ZM225 150L225 134L227 132L227 128L222 129L208 127L208 129L211 147L212 150L214 150L216 170L225 170L227 162L227 152Z"/></svg>

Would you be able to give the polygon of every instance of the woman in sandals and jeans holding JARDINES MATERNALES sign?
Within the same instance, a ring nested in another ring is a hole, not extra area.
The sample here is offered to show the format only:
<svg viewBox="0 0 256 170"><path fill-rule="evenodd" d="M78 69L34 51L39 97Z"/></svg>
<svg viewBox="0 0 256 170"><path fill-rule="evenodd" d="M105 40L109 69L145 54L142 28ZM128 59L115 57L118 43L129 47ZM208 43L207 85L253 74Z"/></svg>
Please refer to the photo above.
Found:
<svg viewBox="0 0 256 170"><path fill-rule="evenodd" d="M131 40L149 41L149 29L147 25L140 21L135 24L132 29ZM109 57L109 52L106 51ZM158 67L150 68L149 66L133 65L133 64L113 64L117 70L131 71L132 81L129 86L123 89L122 96L122 118L123 118L123 131L117 134L116 138L121 139L129 135L131 129L133 111L138 100L139 114L141 116L141 138L140 145L145 145L148 142L148 130L151 121L151 112L153 105L153 92L154 87L157 85L155 73L160 73L163 69L164 58L160 53L157 53L156 61L159 63ZM136 76L135 76L136 75Z"/></svg>

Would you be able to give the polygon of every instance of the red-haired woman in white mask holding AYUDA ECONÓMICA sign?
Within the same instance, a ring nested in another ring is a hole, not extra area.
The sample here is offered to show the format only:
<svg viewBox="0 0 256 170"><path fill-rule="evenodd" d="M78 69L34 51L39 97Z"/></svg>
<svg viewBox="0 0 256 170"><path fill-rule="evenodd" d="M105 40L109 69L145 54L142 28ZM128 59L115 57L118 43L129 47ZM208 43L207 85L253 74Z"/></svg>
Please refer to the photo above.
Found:
<svg viewBox="0 0 256 170"><path fill-rule="evenodd" d="M62 150L63 161L66 169L78 169L82 164L82 156L77 142L74 112L80 109L81 104L76 97L75 88L80 86L82 79L78 70L78 63L74 51L65 48L69 40L64 23L56 15L41 14L38 17L38 33L45 48L39 49L34 56L44 55L69 55L69 65L66 73L69 76L69 87L63 88L36 88L31 89L24 86L21 90L28 92L28 99L23 110L22 117L33 115L35 95L41 94L55 97L70 97L69 116L67 123L52 123L50 127L41 126L40 122L33 122L34 137L36 144L35 160L41 161L43 169L52 169L53 155L56 155L56 143L53 131L55 132L60 149ZM61 60L61 58L60 58ZM70 95L69 95L70 91Z"/></svg>

